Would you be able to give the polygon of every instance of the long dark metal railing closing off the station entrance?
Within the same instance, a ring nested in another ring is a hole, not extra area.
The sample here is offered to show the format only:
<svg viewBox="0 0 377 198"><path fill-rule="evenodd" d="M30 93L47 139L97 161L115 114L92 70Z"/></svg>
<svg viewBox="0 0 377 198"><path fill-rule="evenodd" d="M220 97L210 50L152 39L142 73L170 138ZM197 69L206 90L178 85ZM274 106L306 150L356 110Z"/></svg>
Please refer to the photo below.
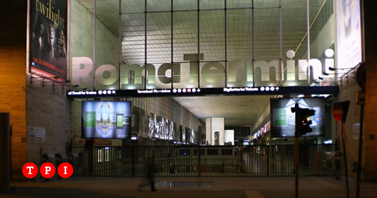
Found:
<svg viewBox="0 0 377 198"><path fill-rule="evenodd" d="M301 176L328 175L325 151L336 145L300 145ZM75 176L156 177L294 176L294 145L72 147Z"/></svg>

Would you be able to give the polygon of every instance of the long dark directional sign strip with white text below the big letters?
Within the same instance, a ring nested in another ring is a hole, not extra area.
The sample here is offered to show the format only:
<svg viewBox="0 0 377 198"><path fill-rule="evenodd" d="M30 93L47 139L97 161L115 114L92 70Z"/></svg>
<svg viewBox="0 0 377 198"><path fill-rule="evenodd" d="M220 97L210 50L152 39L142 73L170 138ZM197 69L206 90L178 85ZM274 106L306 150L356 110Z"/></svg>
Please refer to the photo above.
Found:
<svg viewBox="0 0 377 198"><path fill-rule="evenodd" d="M312 95L339 93L339 86L287 86L238 88L178 88L67 91L67 98L189 97L210 95Z"/></svg>

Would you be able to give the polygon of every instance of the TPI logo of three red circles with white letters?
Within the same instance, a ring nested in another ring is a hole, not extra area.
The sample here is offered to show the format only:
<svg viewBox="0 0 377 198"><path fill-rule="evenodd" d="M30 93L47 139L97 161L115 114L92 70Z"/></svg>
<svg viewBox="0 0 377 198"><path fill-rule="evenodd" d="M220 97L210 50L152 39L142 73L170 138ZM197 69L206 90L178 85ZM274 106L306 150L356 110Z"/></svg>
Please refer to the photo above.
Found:
<svg viewBox="0 0 377 198"><path fill-rule="evenodd" d="M51 178L55 175L56 169L52 163L46 162L39 169L44 178ZM27 178L33 178L38 173L38 167L34 163L28 162L22 167L22 173ZM70 163L61 163L58 167L58 174L62 178L68 178L73 174L73 167Z"/></svg>

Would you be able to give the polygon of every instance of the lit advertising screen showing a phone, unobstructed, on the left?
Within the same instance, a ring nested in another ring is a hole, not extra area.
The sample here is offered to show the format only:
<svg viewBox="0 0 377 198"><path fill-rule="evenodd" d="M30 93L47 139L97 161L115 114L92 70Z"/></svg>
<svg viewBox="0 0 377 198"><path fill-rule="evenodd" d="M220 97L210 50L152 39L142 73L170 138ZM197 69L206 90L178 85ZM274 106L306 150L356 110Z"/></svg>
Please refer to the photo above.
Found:
<svg viewBox="0 0 377 198"><path fill-rule="evenodd" d="M130 139L131 101L82 101L81 138Z"/></svg>

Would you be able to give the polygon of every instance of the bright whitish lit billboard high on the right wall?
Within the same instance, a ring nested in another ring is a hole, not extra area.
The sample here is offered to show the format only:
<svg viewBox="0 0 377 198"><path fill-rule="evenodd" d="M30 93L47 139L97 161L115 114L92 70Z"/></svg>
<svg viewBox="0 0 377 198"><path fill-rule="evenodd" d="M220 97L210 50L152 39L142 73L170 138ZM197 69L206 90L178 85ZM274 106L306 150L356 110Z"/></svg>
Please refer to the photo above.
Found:
<svg viewBox="0 0 377 198"><path fill-rule="evenodd" d="M352 68L362 62L360 0L335 0L335 9L336 67Z"/></svg>

